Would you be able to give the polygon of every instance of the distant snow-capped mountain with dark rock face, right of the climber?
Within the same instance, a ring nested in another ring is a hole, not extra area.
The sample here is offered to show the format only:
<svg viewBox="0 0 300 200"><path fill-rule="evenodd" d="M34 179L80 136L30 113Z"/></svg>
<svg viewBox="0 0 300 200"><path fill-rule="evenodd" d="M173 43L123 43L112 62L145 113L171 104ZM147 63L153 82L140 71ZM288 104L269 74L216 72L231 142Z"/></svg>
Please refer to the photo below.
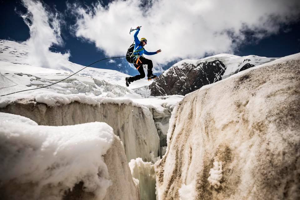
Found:
<svg viewBox="0 0 300 200"><path fill-rule="evenodd" d="M185 95L227 78L247 68L268 63L277 58L218 54L199 60L185 59L163 72L149 85L151 95Z"/></svg>

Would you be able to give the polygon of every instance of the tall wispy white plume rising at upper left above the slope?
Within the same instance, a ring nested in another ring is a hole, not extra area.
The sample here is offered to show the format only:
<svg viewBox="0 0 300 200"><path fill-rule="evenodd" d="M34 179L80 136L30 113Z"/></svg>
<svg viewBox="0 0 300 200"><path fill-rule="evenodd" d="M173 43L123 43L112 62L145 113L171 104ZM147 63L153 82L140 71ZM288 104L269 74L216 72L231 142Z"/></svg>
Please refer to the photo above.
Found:
<svg viewBox="0 0 300 200"><path fill-rule="evenodd" d="M49 50L53 45L63 45L58 12L47 11L39 1L22 2L28 10L26 14L22 14L22 18L30 30L30 38L25 42L30 49L28 63L36 67L71 71L63 67L63 63L68 61L70 56L69 52L62 54Z"/></svg>

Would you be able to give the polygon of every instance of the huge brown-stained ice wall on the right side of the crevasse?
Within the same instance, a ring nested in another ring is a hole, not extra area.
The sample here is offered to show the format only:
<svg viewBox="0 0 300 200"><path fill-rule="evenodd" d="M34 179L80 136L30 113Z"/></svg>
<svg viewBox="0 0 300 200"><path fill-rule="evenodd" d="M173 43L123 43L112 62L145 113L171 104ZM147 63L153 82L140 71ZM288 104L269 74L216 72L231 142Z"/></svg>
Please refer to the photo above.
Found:
<svg viewBox="0 0 300 200"><path fill-rule="evenodd" d="M186 95L155 163L159 200L300 198L299 55Z"/></svg>

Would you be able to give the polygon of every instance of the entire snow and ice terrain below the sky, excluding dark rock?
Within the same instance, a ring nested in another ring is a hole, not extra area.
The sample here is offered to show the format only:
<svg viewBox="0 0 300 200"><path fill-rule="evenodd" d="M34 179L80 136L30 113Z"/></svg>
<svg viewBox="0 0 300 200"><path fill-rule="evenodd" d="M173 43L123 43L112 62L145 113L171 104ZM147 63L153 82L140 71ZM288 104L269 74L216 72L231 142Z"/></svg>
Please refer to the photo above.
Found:
<svg viewBox="0 0 300 200"><path fill-rule="evenodd" d="M27 46L12 41L0 51L1 95L34 89L0 98L1 197L299 197L300 54L183 60L178 70L221 71L185 97L154 98L145 79L126 88L128 75L90 67L67 78L84 66L30 66Z"/></svg>

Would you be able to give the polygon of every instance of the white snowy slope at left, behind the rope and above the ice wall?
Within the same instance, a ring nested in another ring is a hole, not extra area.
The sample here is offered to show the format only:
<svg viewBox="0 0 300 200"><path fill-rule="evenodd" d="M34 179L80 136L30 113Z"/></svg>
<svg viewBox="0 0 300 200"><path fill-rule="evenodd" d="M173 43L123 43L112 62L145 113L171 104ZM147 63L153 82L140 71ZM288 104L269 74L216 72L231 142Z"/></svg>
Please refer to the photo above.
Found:
<svg viewBox="0 0 300 200"><path fill-rule="evenodd" d="M84 68L84 66L72 62L63 63L65 68L62 70L31 66L27 63L28 52L28 47L25 44L0 40L0 95L50 85ZM55 102L57 101L57 103L66 103L68 101L64 101L63 99L76 98L76 94L90 96L90 99L93 99L93 97L123 97L130 98L133 101L134 99L150 97L148 85L151 82L142 79L133 82L127 88L124 81L125 77L128 77L128 75L115 70L88 67L53 86L11 94L2 97L0 102L3 107L16 99L34 99L43 94L52 96L53 98L50 99L56 99ZM61 101L58 99L61 99ZM82 98L77 97L77 99ZM179 98L177 100L180 101ZM149 102L155 101L156 99L153 98L149 99L148 102L139 101L139 103L149 105ZM160 100L158 101L160 102ZM90 100L90 102L94 102L94 100ZM158 109L161 108L158 107Z"/></svg>

